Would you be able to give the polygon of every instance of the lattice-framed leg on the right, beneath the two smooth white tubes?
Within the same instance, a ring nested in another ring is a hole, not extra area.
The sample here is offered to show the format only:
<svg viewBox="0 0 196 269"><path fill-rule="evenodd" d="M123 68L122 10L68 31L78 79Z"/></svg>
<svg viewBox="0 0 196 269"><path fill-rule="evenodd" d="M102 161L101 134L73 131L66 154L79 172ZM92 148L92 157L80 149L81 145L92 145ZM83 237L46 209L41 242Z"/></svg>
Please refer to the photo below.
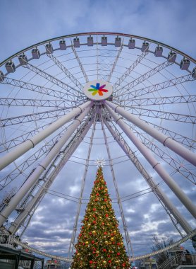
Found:
<svg viewBox="0 0 196 269"><path fill-rule="evenodd" d="M141 173L141 175L145 178L145 181L149 185L150 188L152 188L152 191L154 194L163 202L167 210L171 212L173 217L176 219L176 221L180 224L180 226L183 228L183 230L186 232L186 234L190 234L192 232L192 227L190 227L190 224L185 220L185 218L180 214L180 212L177 210L175 205L169 200L168 196L161 190L161 188L155 183L154 179L149 176L149 173L145 170L145 168L142 166L140 161L137 159L137 156L135 156L135 153L128 147L128 144L125 142L123 137L120 137L120 134L116 134L114 130L111 128L108 122L104 120L104 124L108 128L109 132L111 132L111 135L114 137L118 145L123 149L125 154L128 156L130 161L133 162L137 170Z"/></svg>

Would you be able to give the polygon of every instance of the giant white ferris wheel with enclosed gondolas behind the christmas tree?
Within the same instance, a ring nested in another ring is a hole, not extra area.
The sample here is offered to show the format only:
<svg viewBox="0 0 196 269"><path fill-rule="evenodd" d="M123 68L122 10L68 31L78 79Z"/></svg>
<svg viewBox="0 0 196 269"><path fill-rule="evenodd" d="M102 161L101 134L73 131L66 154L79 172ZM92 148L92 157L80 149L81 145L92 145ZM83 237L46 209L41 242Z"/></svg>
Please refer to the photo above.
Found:
<svg viewBox="0 0 196 269"><path fill-rule="evenodd" d="M56 178L73 171L80 190L76 198L66 193L77 203L72 253L94 162L103 158L129 256L134 242L123 202L133 185L135 197L147 190L158 199L180 237L194 236L194 220L183 212L196 217L195 64L169 45L123 33L65 35L1 62L0 190L8 193L1 233L22 236L45 196L62 197L52 190Z"/></svg>

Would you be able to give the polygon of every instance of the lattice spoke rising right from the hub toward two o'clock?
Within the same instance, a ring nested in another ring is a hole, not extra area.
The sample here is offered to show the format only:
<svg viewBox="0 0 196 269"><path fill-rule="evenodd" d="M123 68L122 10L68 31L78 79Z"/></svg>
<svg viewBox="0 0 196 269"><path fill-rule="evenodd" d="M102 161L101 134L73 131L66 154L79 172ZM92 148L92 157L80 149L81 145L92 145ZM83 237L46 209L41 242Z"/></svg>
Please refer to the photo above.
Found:
<svg viewBox="0 0 196 269"><path fill-rule="evenodd" d="M161 71L162 69L165 69L169 65L171 65L171 63L168 62L168 61L157 65L157 67L154 67L153 69L147 71L147 73L143 74L142 76L139 76L137 79L134 79L130 83L126 84L125 86L116 89L116 91L114 92L114 96L116 96L116 95L119 96L119 95L121 95L121 94L123 94L123 93L125 93L127 91L130 91L130 89L132 89L136 85L139 85L140 83L142 83L146 79L149 79L151 76L153 76L154 74L157 74L159 71Z"/></svg>

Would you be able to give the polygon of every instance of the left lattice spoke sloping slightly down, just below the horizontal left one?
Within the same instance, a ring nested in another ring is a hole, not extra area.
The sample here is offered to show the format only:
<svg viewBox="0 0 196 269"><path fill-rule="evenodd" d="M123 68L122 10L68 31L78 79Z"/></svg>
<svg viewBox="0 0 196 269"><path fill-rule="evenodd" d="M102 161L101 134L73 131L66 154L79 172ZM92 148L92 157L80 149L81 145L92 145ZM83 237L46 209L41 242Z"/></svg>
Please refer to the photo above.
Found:
<svg viewBox="0 0 196 269"><path fill-rule="evenodd" d="M38 113L32 113L27 115L21 115L18 117L13 118L5 118L0 120L0 126L1 127L7 127L10 125L18 125L23 124L25 122L33 122L37 120L45 120L49 118L59 118L61 115L66 115L66 110L63 108L55 109L55 110L49 110L44 112L38 112Z"/></svg>

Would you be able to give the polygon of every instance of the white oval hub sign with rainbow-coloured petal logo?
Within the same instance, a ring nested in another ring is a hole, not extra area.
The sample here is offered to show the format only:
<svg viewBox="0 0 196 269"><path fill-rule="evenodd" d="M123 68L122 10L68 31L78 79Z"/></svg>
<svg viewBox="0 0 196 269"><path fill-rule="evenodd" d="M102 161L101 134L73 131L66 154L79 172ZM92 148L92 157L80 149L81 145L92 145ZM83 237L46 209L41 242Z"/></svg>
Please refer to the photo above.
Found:
<svg viewBox="0 0 196 269"><path fill-rule="evenodd" d="M84 93L87 98L93 101L102 101L113 93L113 88L109 82L95 79L93 81L89 81L84 87Z"/></svg>

